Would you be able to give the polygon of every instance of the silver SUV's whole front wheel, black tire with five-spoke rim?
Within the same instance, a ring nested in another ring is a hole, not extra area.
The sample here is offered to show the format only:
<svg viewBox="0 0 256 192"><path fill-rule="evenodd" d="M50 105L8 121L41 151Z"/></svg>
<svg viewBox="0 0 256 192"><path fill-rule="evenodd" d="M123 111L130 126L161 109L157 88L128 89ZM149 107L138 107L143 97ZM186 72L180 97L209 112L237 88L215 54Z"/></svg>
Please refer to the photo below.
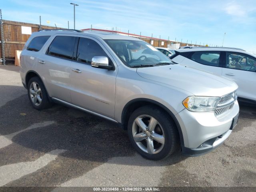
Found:
<svg viewBox="0 0 256 192"><path fill-rule="evenodd" d="M168 157L180 143L178 130L170 116L161 108L150 105L132 113L128 121L128 136L135 150L150 160Z"/></svg>

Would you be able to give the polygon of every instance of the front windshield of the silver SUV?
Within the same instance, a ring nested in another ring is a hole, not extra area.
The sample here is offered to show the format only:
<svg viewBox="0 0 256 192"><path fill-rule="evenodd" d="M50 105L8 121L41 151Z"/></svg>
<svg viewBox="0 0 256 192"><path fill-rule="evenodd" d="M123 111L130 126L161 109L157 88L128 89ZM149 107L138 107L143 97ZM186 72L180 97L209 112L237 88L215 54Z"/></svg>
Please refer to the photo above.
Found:
<svg viewBox="0 0 256 192"><path fill-rule="evenodd" d="M162 52L144 41L111 39L105 42L128 67L174 64Z"/></svg>

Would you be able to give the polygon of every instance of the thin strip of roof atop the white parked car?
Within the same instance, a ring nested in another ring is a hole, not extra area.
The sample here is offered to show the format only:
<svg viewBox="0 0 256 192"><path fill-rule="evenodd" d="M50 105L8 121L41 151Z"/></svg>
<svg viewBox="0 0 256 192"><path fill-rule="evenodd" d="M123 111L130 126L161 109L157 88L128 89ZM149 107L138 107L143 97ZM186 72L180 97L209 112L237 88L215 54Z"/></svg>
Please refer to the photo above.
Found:
<svg viewBox="0 0 256 192"><path fill-rule="evenodd" d="M250 56L255 57L254 54L247 52L243 49L239 48L230 48L230 47L185 47L176 49L175 51L178 52L195 52L195 51L227 51L227 52L240 52L244 54L248 54Z"/></svg>

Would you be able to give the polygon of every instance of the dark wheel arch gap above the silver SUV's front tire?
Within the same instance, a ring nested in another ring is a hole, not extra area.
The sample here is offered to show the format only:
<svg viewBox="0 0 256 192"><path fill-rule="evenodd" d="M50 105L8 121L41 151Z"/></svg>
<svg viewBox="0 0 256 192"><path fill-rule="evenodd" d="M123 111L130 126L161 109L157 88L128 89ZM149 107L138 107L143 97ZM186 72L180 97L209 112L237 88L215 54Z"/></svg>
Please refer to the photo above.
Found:
<svg viewBox="0 0 256 192"><path fill-rule="evenodd" d="M163 104L156 102L154 100L151 99L147 99L147 98L137 98L134 100L131 100L130 102L128 102L123 110L122 110L122 116L121 116L121 126L123 129L127 129L127 123L129 120L130 115L132 114L132 112L138 108L140 108L141 106L145 106L145 105L153 105L153 106L157 106L160 107L162 110L164 110L173 120L174 124L176 125L177 129L178 129L178 133L179 133L179 137L180 137L180 144L181 146L184 146L184 139L183 139L183 134L182 134L182 130L180 128L180 124L178 122L178 120L176 119L176 117L174 116L174 114Z"/></svg>

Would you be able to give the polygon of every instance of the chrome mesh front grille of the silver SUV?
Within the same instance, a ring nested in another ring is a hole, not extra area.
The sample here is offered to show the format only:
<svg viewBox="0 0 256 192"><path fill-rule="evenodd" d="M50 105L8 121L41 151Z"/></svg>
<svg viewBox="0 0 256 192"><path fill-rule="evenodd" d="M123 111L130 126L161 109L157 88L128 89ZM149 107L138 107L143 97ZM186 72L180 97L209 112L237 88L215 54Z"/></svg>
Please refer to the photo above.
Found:
<svg viewBox="0 0 256 192"><path fill-rule="evenodd" d="M222 96L218 102L216 109L214 110L215 116L220 117L226 114L230 109L232 109L236 99L236 92Z"/></svg>

